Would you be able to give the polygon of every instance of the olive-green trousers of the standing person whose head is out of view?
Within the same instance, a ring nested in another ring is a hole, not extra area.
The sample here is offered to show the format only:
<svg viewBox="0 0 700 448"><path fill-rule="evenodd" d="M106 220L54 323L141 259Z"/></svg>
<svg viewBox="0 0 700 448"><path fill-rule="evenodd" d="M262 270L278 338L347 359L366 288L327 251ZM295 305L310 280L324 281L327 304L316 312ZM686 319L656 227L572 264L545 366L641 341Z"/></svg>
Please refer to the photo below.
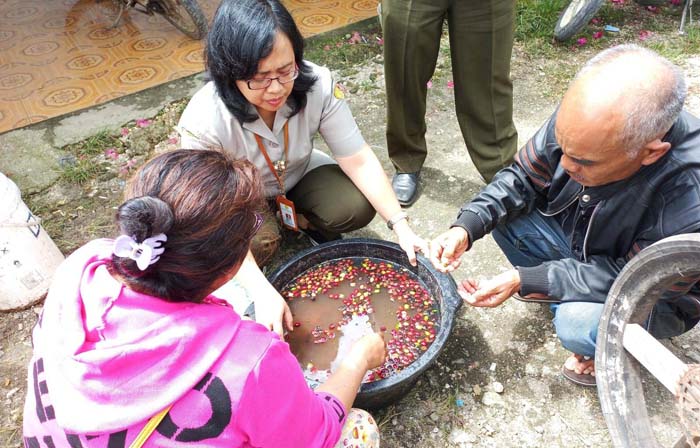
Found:
<svg viewBox="0 0 700 448"><path fill-rule="evenodd" d="M387 147L399 173L427 155L425 101L447 18L457 120L469 155L488 182L512 162L515 0L382 0Z"/></svg>

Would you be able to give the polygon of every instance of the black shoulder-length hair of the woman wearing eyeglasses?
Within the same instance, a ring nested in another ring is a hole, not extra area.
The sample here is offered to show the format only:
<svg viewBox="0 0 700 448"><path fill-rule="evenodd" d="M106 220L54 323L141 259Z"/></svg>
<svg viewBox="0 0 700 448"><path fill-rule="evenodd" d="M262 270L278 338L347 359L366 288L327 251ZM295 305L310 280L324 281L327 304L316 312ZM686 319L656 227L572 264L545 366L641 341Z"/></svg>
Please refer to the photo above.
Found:
<svg viewBox="0 0 700 448"><path fill-rule="evenodd" d="M304 38L289 11L277 0L223 0L207 36L208 76L226 108L241 123L258 119L236 81L251 79L260 61L272 52L277 33L286 35L294 49L299 77L287 99L290 117L306 106L306 95L316 77L304 62Z"/></svg>

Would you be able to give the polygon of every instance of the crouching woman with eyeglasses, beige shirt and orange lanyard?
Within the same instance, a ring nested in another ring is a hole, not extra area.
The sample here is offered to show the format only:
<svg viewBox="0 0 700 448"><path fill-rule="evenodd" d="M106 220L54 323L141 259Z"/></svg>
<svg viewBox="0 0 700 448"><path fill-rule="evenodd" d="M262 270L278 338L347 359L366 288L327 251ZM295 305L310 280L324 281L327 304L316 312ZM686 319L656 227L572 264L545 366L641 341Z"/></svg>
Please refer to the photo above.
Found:
<svg viewBox="0 0 700 448"><path fill-rule="evenodd" d="M378 212L412 264L416 250L427 250L342 89L327 68L303 56L303 38L279 1L222 1L207 40L211 81L193 96L178 125L182 147L220 150L260 170L271 213L253 240L250 266L238 277L244 286L266 283L255 260L263 266L277 250L278 222L320 243L366 226ZM333 157L314 149L317 133ZM282 321L280 300L268 315L277 319L267 320ZM291 330L286 310L285 316ZM282 331L281 324L270 325Z"/></svg>

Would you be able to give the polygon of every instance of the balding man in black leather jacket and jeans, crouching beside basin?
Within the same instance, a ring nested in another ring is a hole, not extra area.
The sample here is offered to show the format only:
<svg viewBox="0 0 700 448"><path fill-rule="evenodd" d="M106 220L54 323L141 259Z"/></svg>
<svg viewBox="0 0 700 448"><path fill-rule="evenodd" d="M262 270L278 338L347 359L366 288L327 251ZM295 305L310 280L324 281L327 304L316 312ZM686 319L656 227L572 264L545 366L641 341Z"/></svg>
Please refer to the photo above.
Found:
<svg viewBox="0 0 700 448"><path fill-rule="evenodd" d="M431 260L452 271L488 232L515 269L467 280L473 306L495 307L515 293L553 304L554 326L573 355L562 373L595 385L595 338L622 267L662 238L700 230L700 120L682 111L683 74L635 45L589 61L559 108L431 243ZM700 319L694 285L656 305L656 337Z"/></svg>

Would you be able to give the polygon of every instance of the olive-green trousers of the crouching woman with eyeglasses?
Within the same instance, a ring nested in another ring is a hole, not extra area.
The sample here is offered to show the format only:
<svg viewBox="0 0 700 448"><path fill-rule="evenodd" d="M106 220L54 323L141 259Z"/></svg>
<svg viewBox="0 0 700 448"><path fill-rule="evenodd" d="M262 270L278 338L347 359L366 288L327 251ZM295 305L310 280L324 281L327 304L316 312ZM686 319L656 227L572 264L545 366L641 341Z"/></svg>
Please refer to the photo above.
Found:
<svg viewBox="0 0 700 448"><path fill-rule="evenodd" d="M309 171L287 192L297 214L302 214L324 234L338 234L360 229L374 219L376 211L338 165L322 165ZM250 249L259 266L264 266L277 252L282 240L275 216L274 200L264 214L263 225L253 238Z"/></svg>

